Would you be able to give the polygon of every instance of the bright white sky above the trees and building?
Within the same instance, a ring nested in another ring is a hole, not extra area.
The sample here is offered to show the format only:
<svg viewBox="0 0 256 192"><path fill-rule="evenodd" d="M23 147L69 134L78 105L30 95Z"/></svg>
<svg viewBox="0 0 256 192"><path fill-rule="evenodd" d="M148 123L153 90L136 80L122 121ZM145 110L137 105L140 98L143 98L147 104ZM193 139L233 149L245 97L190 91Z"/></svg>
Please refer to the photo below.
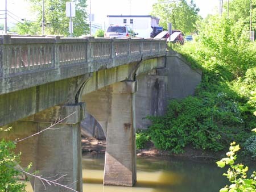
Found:
<svg viewBox="0 0 256 192"><path fill-rule="evenodd" d="M33 20L29 13L29 5L24 0L0 0L0 23L5 22L5 1L7 1L8 25L22 22L22 18ZM104 25L106 15L150 15L152 5L157 0L87 0L88 8L92 3L94 21ZM168 1L168 0L167 0ZM205 18L208 14L217 12L219 0L193 0L199 7L199 14ZM88 9L89 12L89 9Z"/></svg>

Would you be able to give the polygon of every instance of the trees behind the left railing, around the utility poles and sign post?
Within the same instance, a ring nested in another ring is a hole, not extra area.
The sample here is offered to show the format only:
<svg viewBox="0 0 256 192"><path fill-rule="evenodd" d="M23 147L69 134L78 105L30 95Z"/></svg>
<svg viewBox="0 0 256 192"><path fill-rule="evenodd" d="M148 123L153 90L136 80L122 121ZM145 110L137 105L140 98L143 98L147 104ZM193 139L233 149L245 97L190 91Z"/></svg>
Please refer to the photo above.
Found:
<svg viewBox="0 0 256 192"><path fill-rule="evenodd" d="M42 28L42 1L27 0L32 5L32 11L37 15L35 22L24 21L16 26L19 34L41 34ZM69 35L69 18L65 15L65 3L60 0L44 0L45 34ZM76 0L76 16L72 18L73 36L87 34L89 25L86 23L86 0Z"/></svg>

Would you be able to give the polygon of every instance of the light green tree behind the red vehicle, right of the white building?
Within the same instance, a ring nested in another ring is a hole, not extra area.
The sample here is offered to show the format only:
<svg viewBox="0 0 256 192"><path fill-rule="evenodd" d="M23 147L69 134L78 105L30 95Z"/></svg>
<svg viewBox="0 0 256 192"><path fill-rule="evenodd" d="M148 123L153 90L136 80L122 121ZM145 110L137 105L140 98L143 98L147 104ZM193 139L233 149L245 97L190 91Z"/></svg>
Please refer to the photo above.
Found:
<svg viewBox="0 0 256 192"><path fill-rule="evenodd" d="M199 19L195 3L187 3L185 0L165 1L158 0L153 5L152 15L160 18L160 26L167 28L172 23L174 30L181 30L185 33L196 30L196 21Z"/></svg>

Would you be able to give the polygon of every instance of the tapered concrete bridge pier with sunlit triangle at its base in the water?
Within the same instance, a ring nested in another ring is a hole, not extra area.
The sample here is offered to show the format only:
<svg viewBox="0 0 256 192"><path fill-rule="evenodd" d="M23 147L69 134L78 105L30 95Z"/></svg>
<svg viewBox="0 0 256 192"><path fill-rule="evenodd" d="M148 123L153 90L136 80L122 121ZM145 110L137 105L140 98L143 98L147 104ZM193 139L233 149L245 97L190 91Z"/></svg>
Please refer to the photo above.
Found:
<svg viewBox="0 0 256 192"><path fill-rule="evenodd" d="M104 185L133 186L136 178L134 92L136 82L111 85Z"/></svg>

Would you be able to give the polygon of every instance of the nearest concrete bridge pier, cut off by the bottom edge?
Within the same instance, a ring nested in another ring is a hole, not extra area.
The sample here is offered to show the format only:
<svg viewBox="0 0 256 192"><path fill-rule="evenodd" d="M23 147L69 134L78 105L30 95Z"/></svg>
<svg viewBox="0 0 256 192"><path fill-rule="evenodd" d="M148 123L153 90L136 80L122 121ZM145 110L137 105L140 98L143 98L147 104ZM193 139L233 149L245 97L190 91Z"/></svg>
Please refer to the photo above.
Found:
<svg viewBox="0 0 256 192"><path fill-rule="evenodd" d="M80 121L84 119L84 108L82 103L55 106L32 116L32 121L37 123L40 131L51 126L56 119L70 115L51 130L40 133L35 169L39 171L37 175L49 180L66 175L57 182L79 192L82 191ZM45 186L40 180L35 180L34 191L70 191L64 187L48 186L46 183Z"/></svg>

